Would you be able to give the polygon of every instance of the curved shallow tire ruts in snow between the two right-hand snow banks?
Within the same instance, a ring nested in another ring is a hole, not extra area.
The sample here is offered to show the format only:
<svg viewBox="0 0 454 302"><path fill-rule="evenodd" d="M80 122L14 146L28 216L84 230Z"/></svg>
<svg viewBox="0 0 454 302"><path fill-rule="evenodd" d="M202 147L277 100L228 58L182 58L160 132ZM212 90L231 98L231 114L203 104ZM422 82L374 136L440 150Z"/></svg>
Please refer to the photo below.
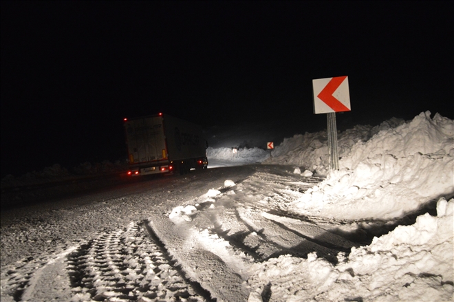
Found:
<svg viewBox="0 0 454 302"><path fill-rule="evenodd" d="M219 188L221 194L208 203L210 206L197 207L199 213L194 223L203 226L202 217L208 217L214 226L212 232L255 261L283 254L306 257L316 251L320 257L335 263L338 252L348 252L352 246L358 246L314 222L304 222L304 219L289 222L288 213L279 210L277 215L268 214L273 206L279 208L292 202L302 191L320 181L288 172L280 174L255 173L240 184ZM265 187L268 189L263 190ZM267 196L263 191L273 193Z"/></svg>

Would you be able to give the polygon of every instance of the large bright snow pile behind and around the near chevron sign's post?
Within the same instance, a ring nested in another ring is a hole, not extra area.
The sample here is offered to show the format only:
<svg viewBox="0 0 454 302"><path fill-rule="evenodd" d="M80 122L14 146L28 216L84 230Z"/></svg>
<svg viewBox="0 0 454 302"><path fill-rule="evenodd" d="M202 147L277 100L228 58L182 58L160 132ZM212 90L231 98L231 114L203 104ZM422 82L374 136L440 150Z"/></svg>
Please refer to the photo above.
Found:
<svg viewBox="0 0 454 302"><path fill-rule="evenodd" d="M431 118L426 111L411 122L355 127L340 133L339 154L339 171L307 190L294 202L294 211L339 219L391 219L454 194L454 122L440 114ZM265 162L327 171L324 158L325 136L306 133L285 140Z"/></svg>

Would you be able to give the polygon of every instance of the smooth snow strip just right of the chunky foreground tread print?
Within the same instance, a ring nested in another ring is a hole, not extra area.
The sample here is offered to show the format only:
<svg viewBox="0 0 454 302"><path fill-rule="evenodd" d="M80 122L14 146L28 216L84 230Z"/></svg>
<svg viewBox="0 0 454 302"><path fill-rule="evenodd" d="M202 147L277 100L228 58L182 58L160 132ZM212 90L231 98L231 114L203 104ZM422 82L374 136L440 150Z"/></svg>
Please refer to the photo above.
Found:
<svg viewBox="0 0 454 302"><path fill-rule="evenodd" d="M248 268L228 248L226 241L191 224L173 224L162 215L152 215L147 224L182 266L186 276L210 292L215 301L247 301L250 289L244 282Z"/></svg>

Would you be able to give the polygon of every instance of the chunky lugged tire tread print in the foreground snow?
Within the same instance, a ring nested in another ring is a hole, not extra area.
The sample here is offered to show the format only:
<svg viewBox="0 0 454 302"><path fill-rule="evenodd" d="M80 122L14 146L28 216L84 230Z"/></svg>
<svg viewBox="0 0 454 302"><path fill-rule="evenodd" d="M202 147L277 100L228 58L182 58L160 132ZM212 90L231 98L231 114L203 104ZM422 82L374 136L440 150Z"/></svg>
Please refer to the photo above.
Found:
<svg viewBox="0 0 454 302"><path fill-rule="evenodd" d="M69 269L75 301L206 301L138 224L81 245Z"/></svg>

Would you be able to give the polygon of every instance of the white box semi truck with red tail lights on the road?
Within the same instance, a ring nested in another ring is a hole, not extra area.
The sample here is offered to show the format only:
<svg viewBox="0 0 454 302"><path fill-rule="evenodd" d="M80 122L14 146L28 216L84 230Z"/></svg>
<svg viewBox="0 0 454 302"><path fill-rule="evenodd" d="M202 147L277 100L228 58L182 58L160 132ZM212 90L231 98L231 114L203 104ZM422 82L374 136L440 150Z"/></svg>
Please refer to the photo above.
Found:
<svg viewBox="0 0 454 302"><path fill-rule="evenodd" d="M191 169L207 169L208 144L202 127L168 114L125 118L124 125L129 175L186 174Z"/></svg>

